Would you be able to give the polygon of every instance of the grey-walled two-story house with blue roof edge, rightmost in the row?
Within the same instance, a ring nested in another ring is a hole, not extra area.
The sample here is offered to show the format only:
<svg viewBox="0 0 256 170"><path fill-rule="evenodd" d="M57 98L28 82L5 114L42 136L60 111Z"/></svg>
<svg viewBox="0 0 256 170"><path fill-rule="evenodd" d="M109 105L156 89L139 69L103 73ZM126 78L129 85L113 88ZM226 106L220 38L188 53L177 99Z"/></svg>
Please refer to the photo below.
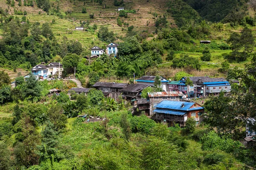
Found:
<svg viewBox="0 0 256 170"><path fill-rule="evenodd" d="M231 85L224 78L200 78L195 82L196 86L201 88L202 96L219 95L221 91L230 92Z"/></svg>

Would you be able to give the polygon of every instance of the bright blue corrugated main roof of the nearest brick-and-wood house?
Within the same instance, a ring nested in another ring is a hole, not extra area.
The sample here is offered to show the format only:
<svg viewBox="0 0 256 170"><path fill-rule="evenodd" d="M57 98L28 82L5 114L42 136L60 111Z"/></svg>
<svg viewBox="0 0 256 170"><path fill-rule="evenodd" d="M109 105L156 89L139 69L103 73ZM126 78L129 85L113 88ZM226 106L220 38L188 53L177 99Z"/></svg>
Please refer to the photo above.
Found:
<svg viewBox="0 0 256 170"><path fill-rule="evenodd" d="M181 107L181 105L184 103L184 107ZM194 102L179 102L179 101L171 101L171 100L163 100L159 104L157 104L155 107L157 109L172 109L172 110L180 110L180 111L192 111L197 109L204 109L203 107L198 108L191 108L192 105L194 105Z"/></svg>

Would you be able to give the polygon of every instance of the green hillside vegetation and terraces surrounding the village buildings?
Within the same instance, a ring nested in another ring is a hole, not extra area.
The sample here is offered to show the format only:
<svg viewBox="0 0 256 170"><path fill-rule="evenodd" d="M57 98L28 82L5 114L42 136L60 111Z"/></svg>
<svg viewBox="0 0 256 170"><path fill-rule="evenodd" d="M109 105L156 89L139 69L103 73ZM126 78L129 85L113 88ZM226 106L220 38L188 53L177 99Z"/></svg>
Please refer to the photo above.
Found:
<svg viewBox="0 0 256 170"><path fill-rule="evenodd" d="M254 0L0 0L0 169L256 168L255 146L242 144L256 110L255 9ZM110 42L119 44L117 57L85 57ZM132 115L121 96L117 102L92 89L69 97L71 80L25 80L41 62L61 62L63 78L76 67L86 88L133 83L134 74L241 83L206 99L204 121L189 119L181 129ZM52 88L62 92L48 96ZM101 121L77 117L84 114Z"/></svg>

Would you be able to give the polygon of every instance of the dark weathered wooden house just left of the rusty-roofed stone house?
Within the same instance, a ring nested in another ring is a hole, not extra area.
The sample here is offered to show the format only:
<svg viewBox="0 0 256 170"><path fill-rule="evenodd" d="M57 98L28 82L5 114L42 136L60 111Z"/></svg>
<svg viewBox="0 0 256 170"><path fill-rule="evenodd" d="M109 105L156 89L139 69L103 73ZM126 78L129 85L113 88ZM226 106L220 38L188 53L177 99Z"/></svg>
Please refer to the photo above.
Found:
<svg viewBox="0 0 256 170"><path fill-rule="evenodd" d="M144 84L127 85L125 88L121 90L122 98L126 100L140 99L141 92L143 91L143 89L150 86L151 85L144 85Z"/></svg>

